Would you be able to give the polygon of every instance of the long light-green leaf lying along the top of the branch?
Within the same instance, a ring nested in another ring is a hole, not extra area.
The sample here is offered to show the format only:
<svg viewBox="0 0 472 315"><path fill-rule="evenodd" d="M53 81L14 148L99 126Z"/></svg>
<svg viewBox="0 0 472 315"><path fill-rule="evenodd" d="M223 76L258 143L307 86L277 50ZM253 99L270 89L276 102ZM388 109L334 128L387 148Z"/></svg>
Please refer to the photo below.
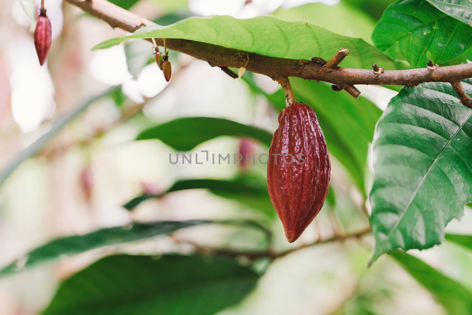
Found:
<svg viewBox="0 0 472 315"><path fill-rule="evenodd" d="M171 26L152 25L135 33L98 44L104 49L133 38L178 38L210 43L260 55L307 59L329 59L341 48L348 48L349 58L342 65L351 68L371 68L376 62L387 69L394 62L360 38L342 36L307 22L287 22L277 17L236 19L229 16L190 17Z"/></svg>

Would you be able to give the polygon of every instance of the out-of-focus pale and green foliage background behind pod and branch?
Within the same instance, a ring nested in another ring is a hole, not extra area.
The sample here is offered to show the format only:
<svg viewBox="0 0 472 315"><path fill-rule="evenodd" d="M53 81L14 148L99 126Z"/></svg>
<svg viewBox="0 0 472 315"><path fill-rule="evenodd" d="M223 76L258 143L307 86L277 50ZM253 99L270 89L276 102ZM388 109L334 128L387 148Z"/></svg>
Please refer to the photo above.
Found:
<svg viewBox="0 0 472 315"><path fill-rule="evenodd" d="M372 43L375 23L393 1L111 2L161 25L272 14ZM324 83L291 80L297 99L318 115L333 170L323 210L288 244L267 194L266 165L233 158L267 153L285 106L275 82L248 72L235 80L171 51L168 84L150 43L90 51L125 33L61 0L46 4L53 43L41 68L33 15L21 8L28 2L0 3L1 314L470 311L470 238L449 234L441 246L383 255L369 269L370 236L277 259L268 254L369 226L370 143L396 91L360 86L355 100ZM203 159L202 150L230 153L231 162L169 162L182 153ZM447 231L470 232L471 222L469 209ZM254 255L228 257L238 252ZM124 297L128 304L119 303Z"/></svg>

